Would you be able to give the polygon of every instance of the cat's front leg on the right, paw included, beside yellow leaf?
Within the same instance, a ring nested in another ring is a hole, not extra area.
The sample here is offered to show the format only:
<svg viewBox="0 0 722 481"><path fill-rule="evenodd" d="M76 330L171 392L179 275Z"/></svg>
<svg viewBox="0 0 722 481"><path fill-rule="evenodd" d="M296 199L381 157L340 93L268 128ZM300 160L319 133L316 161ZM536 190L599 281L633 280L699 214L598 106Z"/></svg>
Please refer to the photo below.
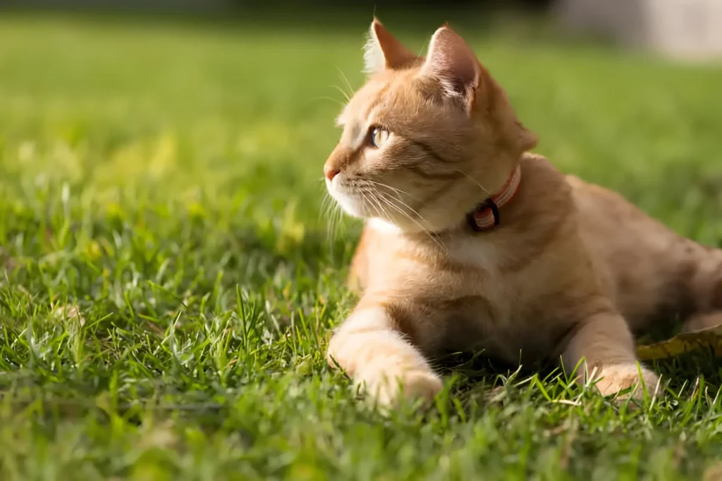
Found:
<svg viewBox="0 0 722 481"><path fill-rule="evenodd" d="M572 371L583 360L576 373L578 381L585 381L585 375L597 380L596 387L604 396L636 386L632 395L641 397L640 373L648 392L657 388L656 374L638 364L632 333L616 312L583 320L561 347L565 370Z"/></svg>

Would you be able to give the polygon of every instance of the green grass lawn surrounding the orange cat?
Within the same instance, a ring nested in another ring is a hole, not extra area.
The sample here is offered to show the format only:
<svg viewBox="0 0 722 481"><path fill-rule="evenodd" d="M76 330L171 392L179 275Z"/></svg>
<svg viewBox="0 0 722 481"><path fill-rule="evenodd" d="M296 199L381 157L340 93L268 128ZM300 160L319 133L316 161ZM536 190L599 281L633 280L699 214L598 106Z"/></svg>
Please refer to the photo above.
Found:
<svg viewBox="0 0 722 481"><path fill-rule="evenodd" d="M637 410L466 360L434 409L384 416L326 367L360 229L329 237L321 167L361 30L0 18L0 479L719 469L704 351L658 363L666 392ZM721 241L721 69L471 40L560 169Z"/></svg>

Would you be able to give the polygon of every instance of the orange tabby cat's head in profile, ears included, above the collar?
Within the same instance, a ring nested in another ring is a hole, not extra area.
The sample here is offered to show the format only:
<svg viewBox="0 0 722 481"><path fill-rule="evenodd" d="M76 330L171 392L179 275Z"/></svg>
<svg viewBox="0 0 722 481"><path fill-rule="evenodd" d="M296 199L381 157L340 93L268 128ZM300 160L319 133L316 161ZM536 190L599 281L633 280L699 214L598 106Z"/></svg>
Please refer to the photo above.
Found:
<svg viewBox="0 0 722 481"><path fill-rule="evenodd" d="M441 231L502 187L536 137L503 89L448 26L419 57L374 19L367 83L339 115L341 140L323 167L352 216L404 231Z"/></svg>

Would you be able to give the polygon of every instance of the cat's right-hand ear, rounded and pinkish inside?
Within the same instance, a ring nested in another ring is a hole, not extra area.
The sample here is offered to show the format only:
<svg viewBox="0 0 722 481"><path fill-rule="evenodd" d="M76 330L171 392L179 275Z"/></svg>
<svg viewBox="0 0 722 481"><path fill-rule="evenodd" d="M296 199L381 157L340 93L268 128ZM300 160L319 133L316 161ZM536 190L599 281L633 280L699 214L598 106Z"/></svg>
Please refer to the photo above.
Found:
<svg viewBox="0 0 722 481"><path fill-rule="evenodd" d="M465 100L473 105L482 68L474 50L447 25L431 37L429 53L420 75L435 79L448 97Z"/></svg>

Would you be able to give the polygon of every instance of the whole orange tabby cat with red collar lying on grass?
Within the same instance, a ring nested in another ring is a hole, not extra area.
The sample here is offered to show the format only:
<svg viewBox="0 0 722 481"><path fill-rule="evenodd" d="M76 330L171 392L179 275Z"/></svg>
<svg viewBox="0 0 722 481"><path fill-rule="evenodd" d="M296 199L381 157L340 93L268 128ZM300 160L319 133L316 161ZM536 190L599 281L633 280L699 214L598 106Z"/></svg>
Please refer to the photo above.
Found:
<svg viewBox="0 0 722 481"><path fill-rule="evenodd" d="M366 219L362 298L328 357L380 404L434 397L429 359L444 350L551 356L605 395L640 374L654 390L632 331L671 313L687 329L722 322L722 252L527 153L536 137L451 28L419 58L374 19L365 60L324 167Z"/></svg>

